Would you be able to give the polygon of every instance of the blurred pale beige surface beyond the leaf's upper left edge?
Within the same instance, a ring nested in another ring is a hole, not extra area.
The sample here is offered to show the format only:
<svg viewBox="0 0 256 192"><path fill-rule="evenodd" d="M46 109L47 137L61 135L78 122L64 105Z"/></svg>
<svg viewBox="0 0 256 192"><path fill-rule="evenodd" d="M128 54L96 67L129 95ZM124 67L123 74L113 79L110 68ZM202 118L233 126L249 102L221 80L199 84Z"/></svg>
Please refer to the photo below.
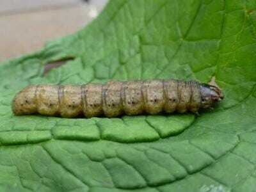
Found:
<svg viewBox="0 0 256 192"><path fill-rule="evenodd" d="M108 0L0 0L0 62L83 28Z"/></svg>

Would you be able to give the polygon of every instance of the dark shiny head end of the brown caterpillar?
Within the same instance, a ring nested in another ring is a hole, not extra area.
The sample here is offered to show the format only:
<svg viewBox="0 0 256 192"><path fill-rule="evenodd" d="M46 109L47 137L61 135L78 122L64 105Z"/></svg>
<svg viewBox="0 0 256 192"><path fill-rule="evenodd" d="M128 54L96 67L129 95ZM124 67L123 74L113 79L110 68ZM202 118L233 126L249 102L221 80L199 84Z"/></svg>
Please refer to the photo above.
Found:
<svg viewBox="0 0 256 192"><path fill-rule="evenodd" d="M211 84L201 84L201 104L202 108L211 108L216 102L224 99L220 88Z"/></svg>

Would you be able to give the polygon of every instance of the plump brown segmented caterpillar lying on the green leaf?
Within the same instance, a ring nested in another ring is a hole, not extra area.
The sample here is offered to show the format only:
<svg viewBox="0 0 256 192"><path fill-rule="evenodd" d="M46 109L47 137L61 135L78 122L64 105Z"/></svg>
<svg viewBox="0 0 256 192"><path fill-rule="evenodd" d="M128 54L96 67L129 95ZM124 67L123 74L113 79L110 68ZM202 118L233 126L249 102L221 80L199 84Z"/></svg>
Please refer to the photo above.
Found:
<svg viewBox="0 0 256 192"><path fill-rule="evenodd" d="M220 88L196 81L109 81L106 84L30 85L12 102L15 115L39 113L67 118L115 117L161 112L198 113L223 99Z"/></svg>

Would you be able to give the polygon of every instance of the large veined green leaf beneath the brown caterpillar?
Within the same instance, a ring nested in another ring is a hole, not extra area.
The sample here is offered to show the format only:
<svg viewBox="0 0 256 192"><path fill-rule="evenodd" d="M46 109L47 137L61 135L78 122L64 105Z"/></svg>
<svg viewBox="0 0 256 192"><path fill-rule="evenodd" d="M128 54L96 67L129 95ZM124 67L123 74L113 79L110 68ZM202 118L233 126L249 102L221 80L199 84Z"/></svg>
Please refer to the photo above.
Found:
<svg viewBox="0 0 256 192"><path fill-rule="evenodd" d="M81 31L2 63L0 191L255 191L255 9L254 0L111 0ZM44 75L59 60L69 61ZM11 110L28 84L212 77L225 100L200 116Z"/></svg>

